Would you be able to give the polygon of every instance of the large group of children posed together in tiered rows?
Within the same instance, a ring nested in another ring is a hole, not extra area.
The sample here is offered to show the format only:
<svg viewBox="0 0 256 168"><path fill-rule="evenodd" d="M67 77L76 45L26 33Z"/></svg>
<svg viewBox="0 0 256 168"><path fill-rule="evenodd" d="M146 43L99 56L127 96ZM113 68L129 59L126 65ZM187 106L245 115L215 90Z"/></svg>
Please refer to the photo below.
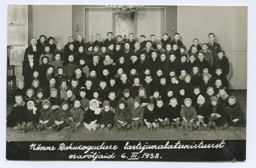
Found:
<svg viewBox="0 0 256 168"><path fill-rule="evenodd" d="M213 56L206 43L201 47L194 39L187 52L178 33L173 41L164 33L157 43L155 35L149 41L141 35L140 43L132 33L127 41L122 36L113 40L111 32L107 36L104 43L100 34L96 41L89 36L88 43L82 42L82 35L77 42L70 37L64 50L58 43L53 54L53 44L42 43L40 36L38 43L45 50L41 63L34 66L37 51L26 51L26 78L17 83L7 126L25 133L50 126L53 132L70 126L73 132L81 126L100 131L114 126L138 130L142 125L150 131L171 126L193 131L201 130L200 123L207 130L246 125L235 97L227 93L224 51Z"/></svg>

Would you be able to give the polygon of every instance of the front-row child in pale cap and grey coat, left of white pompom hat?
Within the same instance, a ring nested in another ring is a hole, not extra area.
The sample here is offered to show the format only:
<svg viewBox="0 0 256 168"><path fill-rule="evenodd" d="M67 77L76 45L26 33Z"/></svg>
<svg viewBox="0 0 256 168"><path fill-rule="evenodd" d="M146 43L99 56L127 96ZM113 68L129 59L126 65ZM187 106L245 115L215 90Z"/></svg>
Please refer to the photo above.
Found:
<svg viewBox="0 0 256 168"><path fill-rule="evenodd" d="M180 116L183 119L181 121L180 130L185 127L187 132L192 132L193 127L198 128L198 126L195 124L195 121L197 119L196 111L195 108L191 106L191 99L186 98L184 100L184 104L185 106L182 106L180 111Z"/></svg>

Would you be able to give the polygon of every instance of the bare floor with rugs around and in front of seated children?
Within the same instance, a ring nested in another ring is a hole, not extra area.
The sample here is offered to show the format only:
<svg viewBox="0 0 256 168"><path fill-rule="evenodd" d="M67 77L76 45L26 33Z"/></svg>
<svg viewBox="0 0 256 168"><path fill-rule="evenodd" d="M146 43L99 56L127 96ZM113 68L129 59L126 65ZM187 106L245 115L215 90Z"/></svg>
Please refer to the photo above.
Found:
<svg viewBox="0 0 256 168"><path fill-rule="evenodd" d="M246 118L246 90L232 90L229 95L233 95L237 99L237 103L241 106ZM7 115L12 109L12 100L7 100ZM17 131L6 128L6 141L107 141L107 140L244 140L246 139L245 127L229 127L226 130L214 130L211 128L207 130L194 130L193 132L186 132L185 129L177 130L173 127L164 130L149 131L146 126L142 126L138 131L120 132L118 128L114 127L110 131L106 128L103 131L88 131L85 127L78 128L73 133L65 129L59 132L51 132L50 129L41 132L28 131L25 134L18 134Z"/></svg>

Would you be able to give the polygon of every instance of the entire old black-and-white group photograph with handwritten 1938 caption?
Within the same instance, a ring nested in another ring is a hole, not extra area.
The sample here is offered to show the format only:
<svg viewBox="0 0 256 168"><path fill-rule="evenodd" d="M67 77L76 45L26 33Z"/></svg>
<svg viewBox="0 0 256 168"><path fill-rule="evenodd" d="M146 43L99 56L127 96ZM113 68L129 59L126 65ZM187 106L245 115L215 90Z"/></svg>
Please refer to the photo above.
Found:
<svg viewBox="0 0 256 168"><path fill-rule="evenodd" d="M248 2L6 4L6 162L242 166Z"/></svg>

